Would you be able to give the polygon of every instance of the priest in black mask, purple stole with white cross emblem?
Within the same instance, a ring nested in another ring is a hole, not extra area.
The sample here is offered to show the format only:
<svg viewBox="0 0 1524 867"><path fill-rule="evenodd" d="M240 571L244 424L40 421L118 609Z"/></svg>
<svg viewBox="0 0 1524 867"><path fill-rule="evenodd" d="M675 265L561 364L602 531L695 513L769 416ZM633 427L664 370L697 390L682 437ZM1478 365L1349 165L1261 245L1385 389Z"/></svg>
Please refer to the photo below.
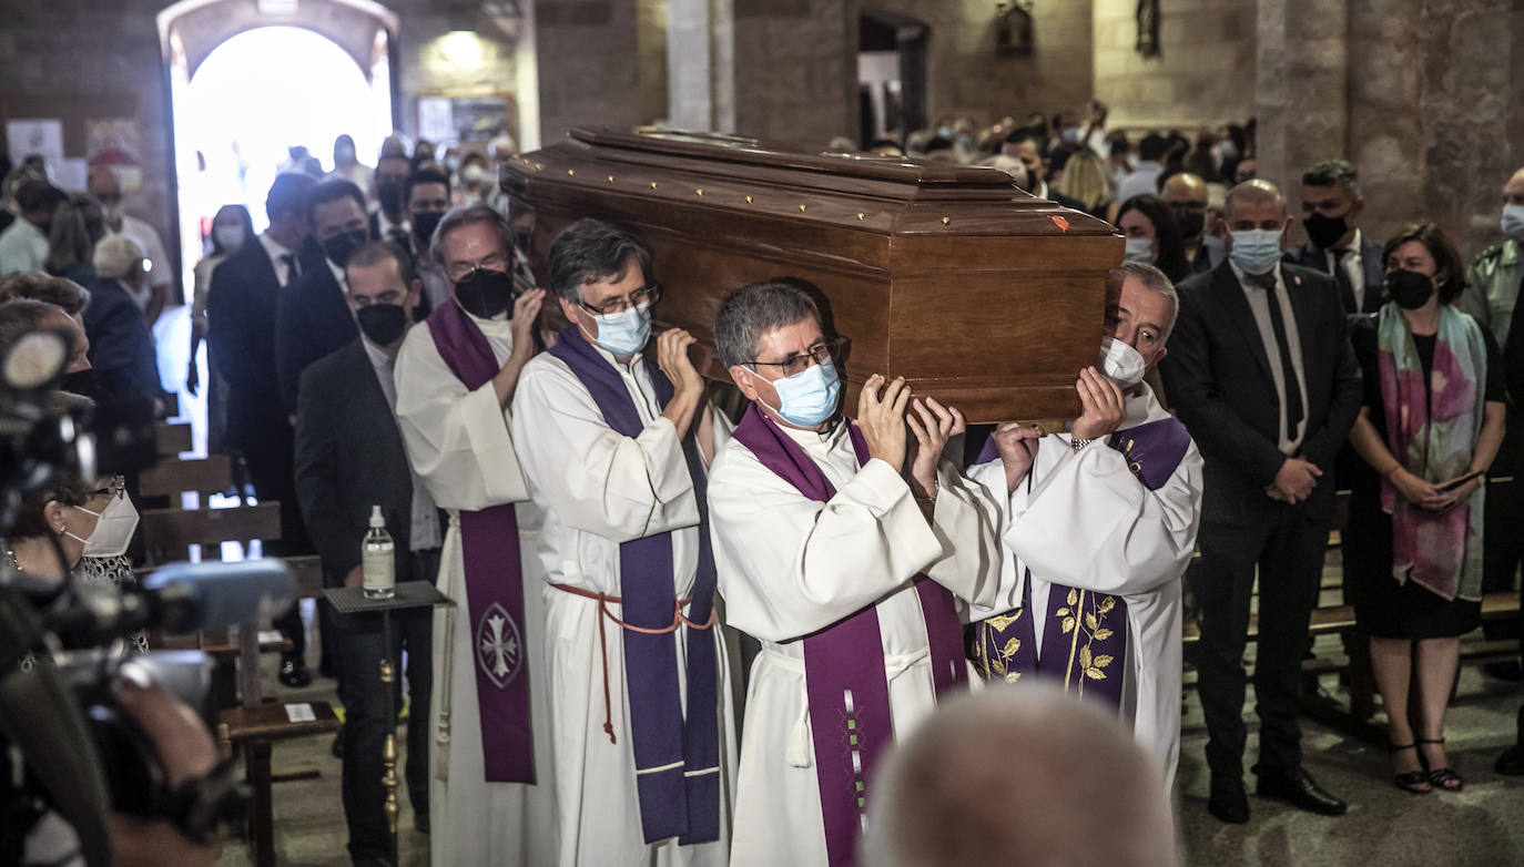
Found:
<svg viewBox="0 0 1524 867"><path fill-rule="evenodd" d="M543 581L507 407L535 354L543 290L515 300L512 232L485 204L439 222L431 253L451 302L396 360L408 460L450 512L434 609L430 862L541 865L556 850L543 658Z"/></svg>

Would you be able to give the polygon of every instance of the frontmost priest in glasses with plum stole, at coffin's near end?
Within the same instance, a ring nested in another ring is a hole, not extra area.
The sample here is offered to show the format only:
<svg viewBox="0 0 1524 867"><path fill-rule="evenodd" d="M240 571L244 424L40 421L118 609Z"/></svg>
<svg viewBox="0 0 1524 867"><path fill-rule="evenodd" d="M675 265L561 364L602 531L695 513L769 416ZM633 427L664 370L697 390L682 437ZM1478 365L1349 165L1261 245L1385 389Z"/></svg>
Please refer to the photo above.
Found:
<svg viewBox="0 0 1524 867"><path fill-rule="evenodd" d="M995 506L940 460L957 410L873 375L843 418L841 344L797 280L730 293L715 343L751 401L710 474L719 593L762 643L732 864L852 864L875 762L966 689L959 606L997 588Z"/></svg>

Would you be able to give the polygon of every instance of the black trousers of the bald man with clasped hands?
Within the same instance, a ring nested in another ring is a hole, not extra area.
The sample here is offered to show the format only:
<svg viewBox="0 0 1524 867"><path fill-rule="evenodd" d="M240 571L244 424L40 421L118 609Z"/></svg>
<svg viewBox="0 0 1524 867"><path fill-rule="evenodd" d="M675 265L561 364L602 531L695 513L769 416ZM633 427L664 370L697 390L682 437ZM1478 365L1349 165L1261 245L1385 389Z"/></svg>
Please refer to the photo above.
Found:
<svg viewBox="0 0 1524 867"><path fill-rule="evenodd" d="M1308 520L1300 506L1277 504L1260 524L1202 523L1195 570L1201 643L1198 693L1207 721L1207 766L1215 776L1244 776L1244 648L1250 594L1259 570L1259 649L1254 695L1259 768L1301 763L1301 655L1308 619L1317 605L1329 521Z"/></svg>

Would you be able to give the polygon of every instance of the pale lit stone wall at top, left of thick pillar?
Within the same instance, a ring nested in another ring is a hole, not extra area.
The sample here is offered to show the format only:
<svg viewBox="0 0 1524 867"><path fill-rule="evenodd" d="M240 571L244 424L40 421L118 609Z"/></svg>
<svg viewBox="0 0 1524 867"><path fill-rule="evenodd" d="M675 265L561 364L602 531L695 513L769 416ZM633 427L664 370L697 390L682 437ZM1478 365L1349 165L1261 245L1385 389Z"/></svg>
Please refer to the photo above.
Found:
<svg viewBox="0 0 1524 867"><path fill-rule="evenodd" d="M1260 18L1265 21L1260 3ZM1244 0L1160 0L1160 53L1137 53L1137 0L1094 0L1096 94L1117 128L1242 123L1254 114L1256 17Z"/></svg>

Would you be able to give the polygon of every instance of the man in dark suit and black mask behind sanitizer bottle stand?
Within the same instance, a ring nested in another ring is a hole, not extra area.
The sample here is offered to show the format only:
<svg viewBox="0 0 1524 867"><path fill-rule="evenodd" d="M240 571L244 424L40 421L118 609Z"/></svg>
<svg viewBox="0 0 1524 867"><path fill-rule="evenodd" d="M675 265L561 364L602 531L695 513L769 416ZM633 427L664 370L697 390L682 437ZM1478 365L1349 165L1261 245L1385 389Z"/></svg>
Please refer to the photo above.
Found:
<svg viewBox="0 0 1524 867"><path fill-rule="evenodd" d="M296 422L296 485L302 513L323 558L329 587L360 587L361 541L372 506L381 506L396 544L396 581L433 581L439 571L439 510L402 451L393 414L392 364L413 325L422 291L410 258L372 242L349 258L347 305L361 338L317 361L302 375ZM411 710L407 728L407 788L415 821L428 823L430 617L398 617L392 648L383 648L375 617L334 616L338 698L344 702L343 797L349 855L355 864L384 862L387 827L381 812L381 748L390 721L378 666L390 652L395 670L407 649ZM401 707L401 705L398 705Z"/></svg>

